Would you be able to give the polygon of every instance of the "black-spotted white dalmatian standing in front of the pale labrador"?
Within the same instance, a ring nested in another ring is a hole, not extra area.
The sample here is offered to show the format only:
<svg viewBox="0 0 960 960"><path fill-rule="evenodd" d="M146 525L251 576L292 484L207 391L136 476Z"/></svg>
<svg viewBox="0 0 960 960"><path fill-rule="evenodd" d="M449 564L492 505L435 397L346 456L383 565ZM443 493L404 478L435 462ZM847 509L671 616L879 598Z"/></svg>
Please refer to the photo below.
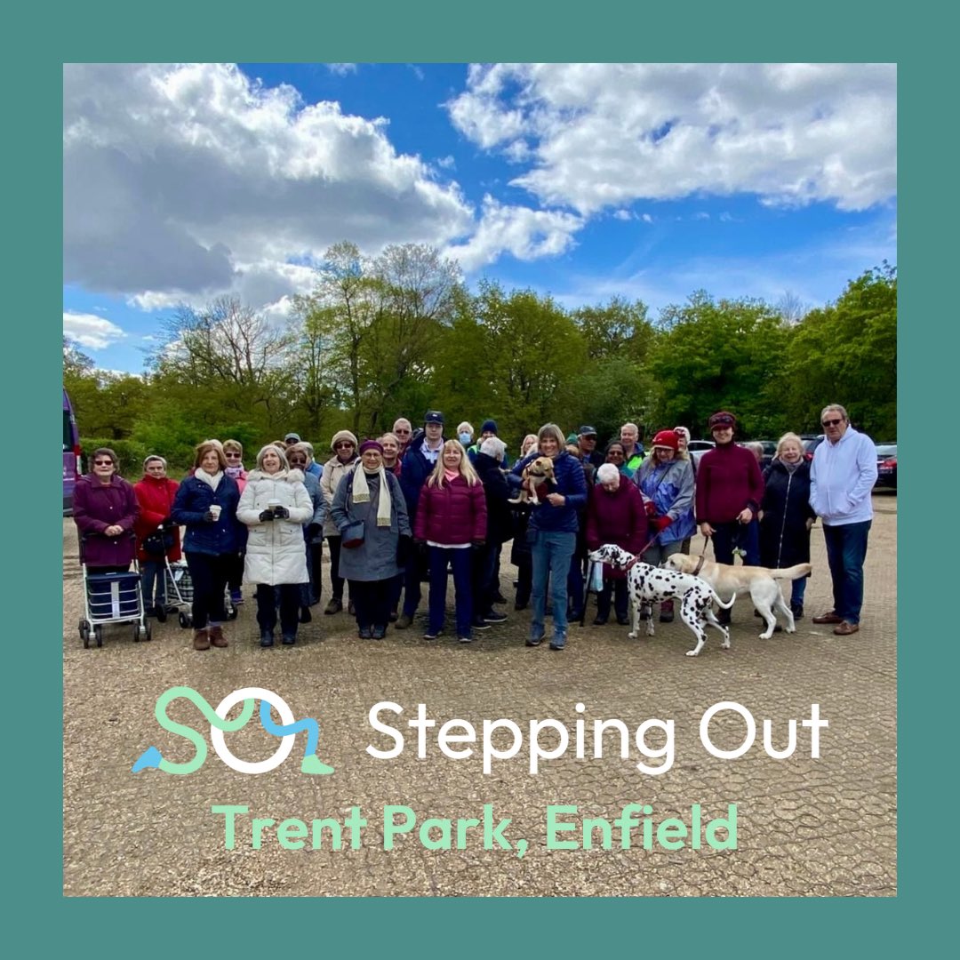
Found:
<svg viewBox="0 0 960 960"><path fill-rule="evenodd" d="M648 603L661 603L664 600L680 601L680 616L693 631L697 645L686 651L687 657L696 657L707 642L707 626L716 627L723 635L720 644L722 650L730 649L730 631L722 626L713 615L713 604L730 610L733 599L724 603L707 583L699 577L679 570L666 570L659 566L641 563L632 553L605 543L597 550L591 550L588 558L594 564L610 564L620 570L627 570L627 592L633 607L633 629L631 639L639 633L640 607ZM654 618L647 620L647 636L654 636Z"/></svg>

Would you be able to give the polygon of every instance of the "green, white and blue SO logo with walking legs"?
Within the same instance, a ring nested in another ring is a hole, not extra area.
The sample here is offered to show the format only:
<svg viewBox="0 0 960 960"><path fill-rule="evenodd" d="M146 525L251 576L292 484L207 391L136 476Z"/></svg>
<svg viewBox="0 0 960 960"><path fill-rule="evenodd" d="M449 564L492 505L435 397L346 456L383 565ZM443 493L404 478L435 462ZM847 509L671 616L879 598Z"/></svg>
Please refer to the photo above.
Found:
<svg viewBox="0 0 960 960"><path fill-rule="evenodd" d="M231 770L235 770L239 774L265 774L276 769L290 756L297 740L297 734L302 731L306 731L306 747L303 752L303 759L300 761L300 772L313 776L333 773L333 767L325 764L317 756L317 743L320 739L320 725L317 721L312 717L297 720L294 717L293 710L287 706L286 701L279 694L276 694L273 690L264 689L262 686L245 686L241 690L234 690L220 701L216 709L212 708L204 696L191 686L172 686L169 690L165 690L156 698L156 708L154 709L156 722L163 730L189 740L194 746L194 756L185 763L176 763L161 756L156 747L148 747L137 757L132 767L132 773L135 774L140 770L154 767L157 770L162 770L165 774L183 776L184 774L192 774L204 765L206 759L204 735L167 716L167 707L180 698L190 701L200 710L204 720L210 725L210 742L213 744L216 755ZM253 708L257 700L260 701L260 724L266 732L280 738L280 745L276 748L273 756L268 756L267 759L254 763L233 756L227 746L224 733L236 732L246 727L253 715ZM227 714L230 708L241 702L243 702L243 709L241 709L240 715L235 720L228 720ZM276 712L279 713L280 719L283 721L282 724L274 723L274 719L270 715L271 707L276 708Z"/></svg>

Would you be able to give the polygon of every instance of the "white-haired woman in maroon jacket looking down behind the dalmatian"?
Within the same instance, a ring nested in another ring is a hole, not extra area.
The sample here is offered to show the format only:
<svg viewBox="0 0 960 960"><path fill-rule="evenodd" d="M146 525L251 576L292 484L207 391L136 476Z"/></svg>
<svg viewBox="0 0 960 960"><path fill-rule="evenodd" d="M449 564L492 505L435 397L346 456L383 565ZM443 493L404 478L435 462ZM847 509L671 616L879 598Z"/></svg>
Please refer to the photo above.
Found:
<svg viewBox="0 0 960 960"><path fill-rule="evenodd" d="M615 543L629 553L638 554L647 542L647 512L643 497L613 464L597 468L597 483L590 488L587 504L587 548L596 550L604 543ZM627 571L603 564L603 589L597 594L594 627L610 616L610 598L616 622L628 623Z"/></svg>

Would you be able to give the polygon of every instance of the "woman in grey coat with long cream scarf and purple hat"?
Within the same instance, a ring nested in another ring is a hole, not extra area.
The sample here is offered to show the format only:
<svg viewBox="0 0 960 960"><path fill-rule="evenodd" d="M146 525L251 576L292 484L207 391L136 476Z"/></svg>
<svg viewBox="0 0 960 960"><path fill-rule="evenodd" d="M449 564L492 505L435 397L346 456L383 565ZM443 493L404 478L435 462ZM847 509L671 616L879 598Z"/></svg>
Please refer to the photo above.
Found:
<svg viewBox="0 0 960 960"><path fill-rule="evenodd" d="M337 488L330 517L343 538L359 524L362 536L345 540L339 575L350 585L357 636L382 640L387 635L391 587L409 553L410 521L406 501L393 473L383 468L383 447L375 440L360 444L360 462Z"/></svg>

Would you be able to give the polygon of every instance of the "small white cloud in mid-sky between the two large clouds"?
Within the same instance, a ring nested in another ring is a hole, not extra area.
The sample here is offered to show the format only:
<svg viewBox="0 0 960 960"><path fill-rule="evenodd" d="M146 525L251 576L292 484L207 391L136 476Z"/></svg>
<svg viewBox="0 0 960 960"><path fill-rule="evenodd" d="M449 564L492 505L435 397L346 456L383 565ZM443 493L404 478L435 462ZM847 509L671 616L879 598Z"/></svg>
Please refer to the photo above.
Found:
<svg viewBox="0 0 960 960"><path fill-rule="evenodd" d="M479 227L466 243L448 246L444 253L456 257L465 271L492 263L501 252L535 260L569 250L581 227L583 220L573 214L508 206L488 194Z"/></svg>

